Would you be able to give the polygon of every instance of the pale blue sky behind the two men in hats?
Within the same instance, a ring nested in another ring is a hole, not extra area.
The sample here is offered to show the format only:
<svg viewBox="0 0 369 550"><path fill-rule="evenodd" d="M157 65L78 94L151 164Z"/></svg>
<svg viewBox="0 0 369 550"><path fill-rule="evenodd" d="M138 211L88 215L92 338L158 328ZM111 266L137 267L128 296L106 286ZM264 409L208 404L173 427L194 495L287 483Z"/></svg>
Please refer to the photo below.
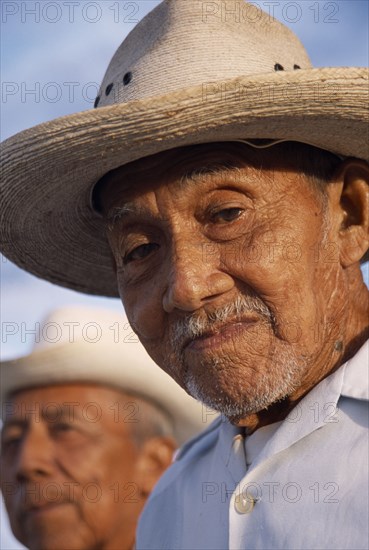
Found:
<svg viewBox="0 0 369 550"><path fill-rule="evenodd" d="M106 66L122 39L157 0L1 3L1 139L61 115L92 108ZM255 1L296 32L315 66L368 66L367 0ZM73 4L73 6L71 6ZM0 260L1 357L30 351L27 329L55 307L80 303L121 309L118 300L62 289ZM366 280L368 281L368 267ZM23 332L23 333L22 333ZM4 516L2 514L2 523ZM3 530L1 548L21 548Z"/></svg>

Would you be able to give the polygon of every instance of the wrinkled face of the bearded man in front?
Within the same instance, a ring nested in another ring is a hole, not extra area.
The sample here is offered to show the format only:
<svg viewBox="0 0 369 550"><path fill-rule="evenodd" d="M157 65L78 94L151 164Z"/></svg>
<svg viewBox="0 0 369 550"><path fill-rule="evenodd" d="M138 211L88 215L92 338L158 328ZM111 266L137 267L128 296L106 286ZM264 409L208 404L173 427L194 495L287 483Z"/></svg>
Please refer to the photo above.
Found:
<svg viewBox="0 0 369 550"><path fill-rule="evenodd" d="M234 421L306 391L341 330L329 201L274 160L252 166L235 144L176 150L122 167L102 193L132 326Z"/></svg>

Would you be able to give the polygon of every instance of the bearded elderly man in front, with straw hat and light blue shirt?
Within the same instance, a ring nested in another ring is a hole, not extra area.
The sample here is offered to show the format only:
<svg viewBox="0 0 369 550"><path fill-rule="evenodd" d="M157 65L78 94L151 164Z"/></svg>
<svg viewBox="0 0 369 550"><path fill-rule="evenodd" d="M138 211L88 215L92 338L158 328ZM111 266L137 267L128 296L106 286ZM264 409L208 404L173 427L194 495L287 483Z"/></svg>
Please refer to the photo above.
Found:
<svg viewBox="0 0 369 550"><path fill-rule="evenodd" d="M368 71L312 68L253 5L165 0L95 107L6 143L3 249L118 288L151 357L223 414L137 547L367 548Z"/></svg>

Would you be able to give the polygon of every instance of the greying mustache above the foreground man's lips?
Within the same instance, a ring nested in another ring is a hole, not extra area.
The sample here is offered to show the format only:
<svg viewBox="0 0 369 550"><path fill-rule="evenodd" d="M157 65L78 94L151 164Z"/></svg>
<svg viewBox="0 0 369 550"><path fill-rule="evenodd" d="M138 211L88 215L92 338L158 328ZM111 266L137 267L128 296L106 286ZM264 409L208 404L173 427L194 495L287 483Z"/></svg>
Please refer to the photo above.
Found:
<svg viewBox="0 0 369 550"><path fill-rule="evenodd" d="M184 342L199 338L214 330L214 325L241 319L245 314L257 313L265 320L272 322L273 314L264 302L257 296L238 296L234 302L207 313L193 313L178 319L172 325L171 341L176 350L181 349Z"/></svg>

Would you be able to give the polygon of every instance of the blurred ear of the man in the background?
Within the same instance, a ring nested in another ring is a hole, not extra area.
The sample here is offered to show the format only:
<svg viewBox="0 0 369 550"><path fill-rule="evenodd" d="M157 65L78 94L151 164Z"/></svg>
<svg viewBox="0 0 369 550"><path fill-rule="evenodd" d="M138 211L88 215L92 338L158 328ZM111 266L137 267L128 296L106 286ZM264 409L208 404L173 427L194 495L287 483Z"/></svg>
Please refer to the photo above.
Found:
<svg viewBox="0 0 369 550"><path fill-rule="evenodd" d="M176 444L171 437L153 437L145 441L136 463L138 485L149 496L154 485L170 466Z"/></svg>

